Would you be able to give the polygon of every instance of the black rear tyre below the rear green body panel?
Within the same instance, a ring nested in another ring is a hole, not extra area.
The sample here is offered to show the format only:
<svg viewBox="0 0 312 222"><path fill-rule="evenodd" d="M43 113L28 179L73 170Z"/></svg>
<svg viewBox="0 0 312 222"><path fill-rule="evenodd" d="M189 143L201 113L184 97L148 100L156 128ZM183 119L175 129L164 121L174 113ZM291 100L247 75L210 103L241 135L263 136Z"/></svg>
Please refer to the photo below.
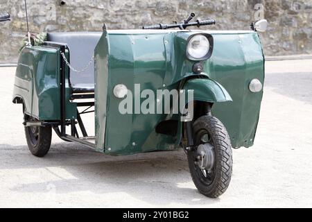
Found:
<svg viewBox="0 0 312 222"><path fill-rule="evenodd" d="M37 139L34 142L34 134L31 127L25 126L26 141L29 151L36 157L44 157L49 152L52 139L51 126L37 126Z"/></svg>

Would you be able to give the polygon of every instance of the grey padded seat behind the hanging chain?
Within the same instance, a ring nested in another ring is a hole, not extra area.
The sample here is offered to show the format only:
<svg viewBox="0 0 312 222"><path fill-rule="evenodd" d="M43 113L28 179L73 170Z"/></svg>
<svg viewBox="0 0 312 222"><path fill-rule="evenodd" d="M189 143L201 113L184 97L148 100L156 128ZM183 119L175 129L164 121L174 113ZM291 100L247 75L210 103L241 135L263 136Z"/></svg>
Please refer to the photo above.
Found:
<svg viewBox="0 0 312 222"><path fill-rule="evenodd" d="M101 32L48 33L47 40L66 43L69 47L70 64L75 69L83 69L94 56L94 49ZM72 92L94 92L94 62L83 72L70 71Z"/></svg>

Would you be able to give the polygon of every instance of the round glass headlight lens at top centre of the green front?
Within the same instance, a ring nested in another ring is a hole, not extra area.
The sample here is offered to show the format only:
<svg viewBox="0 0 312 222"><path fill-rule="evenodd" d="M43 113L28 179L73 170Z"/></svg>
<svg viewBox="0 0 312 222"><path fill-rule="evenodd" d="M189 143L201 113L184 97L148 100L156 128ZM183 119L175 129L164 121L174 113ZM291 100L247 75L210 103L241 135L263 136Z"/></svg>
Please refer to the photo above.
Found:
<svg viewBox="0 0 312 222"><path fill-rule="evenodd" d="M187 53L196 60L204 58L209 52L209 40L205 35L195 35L189 40Z"/></svg>

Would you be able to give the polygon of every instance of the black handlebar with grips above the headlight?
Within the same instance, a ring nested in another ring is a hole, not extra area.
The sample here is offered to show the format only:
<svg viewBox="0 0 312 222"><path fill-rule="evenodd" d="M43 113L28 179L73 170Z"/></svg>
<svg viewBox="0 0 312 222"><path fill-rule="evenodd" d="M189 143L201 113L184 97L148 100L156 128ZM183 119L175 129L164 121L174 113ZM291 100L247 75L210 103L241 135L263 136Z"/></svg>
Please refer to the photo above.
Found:
<svg viewBox="0 0 312 222"><path fill-rule="evenodd" d="M180 28L185 29L189 26L209 26L216 24L214 19L207 19L207 20L197 20L196 22L188 22L188 23L177 23L177 24L156 24L151 26L143 26L143 29L168 29L168 28Z"/></svg>

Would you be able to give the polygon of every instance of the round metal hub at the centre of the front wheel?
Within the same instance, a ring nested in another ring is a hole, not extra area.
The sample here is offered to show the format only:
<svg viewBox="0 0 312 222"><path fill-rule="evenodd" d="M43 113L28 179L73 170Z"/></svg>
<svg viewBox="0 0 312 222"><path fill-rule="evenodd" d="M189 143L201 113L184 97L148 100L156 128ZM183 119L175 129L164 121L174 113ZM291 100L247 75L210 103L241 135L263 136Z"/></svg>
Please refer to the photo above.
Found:
<svg viewBox="0 0 312 222"><path fill-rule="evenodd" d="M214 147L211 144L200 144L197 148L198 167L202 170L211 171L214 167Z"/></svg>

